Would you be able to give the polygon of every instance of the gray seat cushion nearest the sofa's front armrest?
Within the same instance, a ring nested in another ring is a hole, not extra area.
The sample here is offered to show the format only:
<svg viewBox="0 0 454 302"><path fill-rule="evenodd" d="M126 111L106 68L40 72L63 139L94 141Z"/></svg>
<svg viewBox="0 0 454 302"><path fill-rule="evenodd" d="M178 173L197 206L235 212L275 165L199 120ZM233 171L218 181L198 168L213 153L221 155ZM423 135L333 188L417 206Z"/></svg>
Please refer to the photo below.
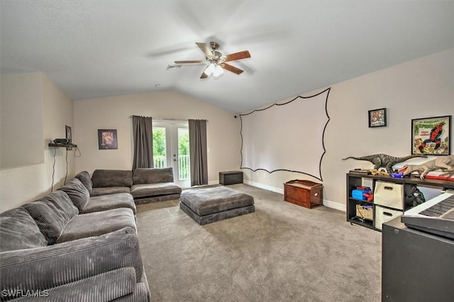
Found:
<svg viewBox="0 0 454 302"><path fill-rule="evenodd" d="M67 224L57 243L101 236L126 227L135 229L135 216L131 209L110 209L79 214Z"/></svg>

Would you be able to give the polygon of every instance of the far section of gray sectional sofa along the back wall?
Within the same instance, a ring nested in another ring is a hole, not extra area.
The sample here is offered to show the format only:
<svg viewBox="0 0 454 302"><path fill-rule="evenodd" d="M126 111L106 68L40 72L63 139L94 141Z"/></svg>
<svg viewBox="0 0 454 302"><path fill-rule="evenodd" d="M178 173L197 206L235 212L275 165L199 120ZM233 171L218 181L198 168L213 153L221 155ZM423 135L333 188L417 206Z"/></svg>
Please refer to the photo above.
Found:
<svg viewBox="0 0 454 302"><path fill-rule="evenodd" d="M76 175L81 182L92 185L90 195L131 193L135 204L179 199L182 188L173 180L172 168L137 168L131 170L94 170Z"/></svg>

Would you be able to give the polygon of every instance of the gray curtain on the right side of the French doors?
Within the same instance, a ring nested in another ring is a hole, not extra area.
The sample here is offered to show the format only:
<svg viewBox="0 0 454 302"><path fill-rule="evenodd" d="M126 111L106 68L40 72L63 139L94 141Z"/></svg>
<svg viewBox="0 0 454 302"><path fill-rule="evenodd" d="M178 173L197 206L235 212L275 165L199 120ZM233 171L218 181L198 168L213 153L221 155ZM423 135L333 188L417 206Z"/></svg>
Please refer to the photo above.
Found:
<svg viewBox="0 0 454 302"><path fill-rule="evenodd" d="M189 161L191 186L208 185L206 120L189 120Z"/></svg>

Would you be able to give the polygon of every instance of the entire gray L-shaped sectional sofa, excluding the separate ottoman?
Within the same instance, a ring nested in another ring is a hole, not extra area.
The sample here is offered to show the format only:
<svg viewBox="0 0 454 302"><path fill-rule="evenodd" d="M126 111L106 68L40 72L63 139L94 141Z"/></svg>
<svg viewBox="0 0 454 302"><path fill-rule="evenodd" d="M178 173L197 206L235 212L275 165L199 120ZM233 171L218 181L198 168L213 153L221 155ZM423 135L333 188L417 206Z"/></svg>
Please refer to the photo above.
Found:
<svg viewBox="0 0 454 302"><path fill-rule="evenodd" d="M84 171L0 214L0 301L150 301L135 201L181 188L169 169L128 172Z"/></svg>

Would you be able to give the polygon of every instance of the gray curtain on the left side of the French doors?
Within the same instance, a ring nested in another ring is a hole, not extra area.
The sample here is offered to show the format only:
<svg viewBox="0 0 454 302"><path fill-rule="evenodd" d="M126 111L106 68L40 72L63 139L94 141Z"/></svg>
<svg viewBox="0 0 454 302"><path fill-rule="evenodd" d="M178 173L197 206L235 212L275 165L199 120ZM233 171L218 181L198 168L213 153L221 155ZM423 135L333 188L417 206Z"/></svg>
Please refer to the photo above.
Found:
<svg viewBox="0 0 454 302"><path fill-rule="evenodd" d="M133 115L134 160L136 168L153 168L153 124L151 117Z"/></svg>

